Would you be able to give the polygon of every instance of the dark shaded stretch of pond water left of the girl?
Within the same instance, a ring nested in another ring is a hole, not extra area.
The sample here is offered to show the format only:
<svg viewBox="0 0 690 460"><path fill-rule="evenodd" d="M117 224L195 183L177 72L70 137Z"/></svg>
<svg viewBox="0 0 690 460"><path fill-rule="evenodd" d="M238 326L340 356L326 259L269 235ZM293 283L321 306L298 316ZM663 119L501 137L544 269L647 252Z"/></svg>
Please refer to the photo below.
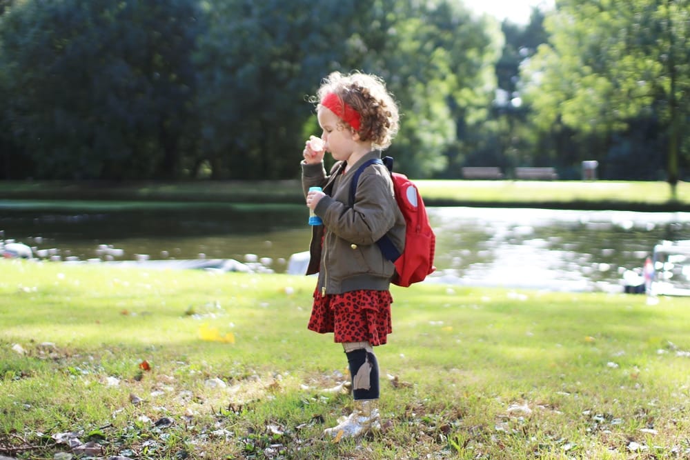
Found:
<svg viewBox="0 0 690 460"><path fill-rule="evenodd" d="M290 205L199 205L78 214L3 210L0 238L21 241L40 254L62 260L244 261L246 254L255 254L256 259L270 259L268 265L282 272L284 259L309 243L306 219L304 206Z"/></svg>

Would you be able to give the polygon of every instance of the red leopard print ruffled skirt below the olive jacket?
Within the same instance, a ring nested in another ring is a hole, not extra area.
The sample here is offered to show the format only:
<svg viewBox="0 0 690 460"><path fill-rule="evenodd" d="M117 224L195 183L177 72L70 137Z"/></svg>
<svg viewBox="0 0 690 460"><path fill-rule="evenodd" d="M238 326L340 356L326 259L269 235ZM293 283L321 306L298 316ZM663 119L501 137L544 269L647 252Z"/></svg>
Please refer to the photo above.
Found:
<svg viewBox="0 0 690 460"><path fill-rule="evenodd" d="M307 328L319 334L333 332L337 343L368 341L383 345L393 332L391 292L356 290L342 294L321 295L314 292L314 304Z"/></svg>

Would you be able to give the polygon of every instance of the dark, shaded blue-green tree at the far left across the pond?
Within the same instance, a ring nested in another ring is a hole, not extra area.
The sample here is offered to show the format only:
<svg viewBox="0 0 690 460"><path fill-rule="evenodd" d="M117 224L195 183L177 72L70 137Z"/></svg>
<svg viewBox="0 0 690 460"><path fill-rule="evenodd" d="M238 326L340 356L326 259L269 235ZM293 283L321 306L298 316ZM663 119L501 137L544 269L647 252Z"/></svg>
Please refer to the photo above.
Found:
<svg viewBox="0 0 690 460"><path fill-rule="evenodd" d="M3 14L7 114L39 177L177 177L196 5L34 0Z"/></svg>

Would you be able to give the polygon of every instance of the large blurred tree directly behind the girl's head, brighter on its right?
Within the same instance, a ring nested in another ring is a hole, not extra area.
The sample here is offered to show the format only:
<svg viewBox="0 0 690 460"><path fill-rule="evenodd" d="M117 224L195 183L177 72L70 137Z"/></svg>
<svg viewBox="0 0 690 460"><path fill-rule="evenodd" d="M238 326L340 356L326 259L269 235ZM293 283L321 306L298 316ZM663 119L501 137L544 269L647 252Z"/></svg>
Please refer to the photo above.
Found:
<svg viewBox="0 0 690 460"><path fill-rule="evenodd" d="M304 138L318 132L305 99L333 70L386 80L404 113L391 154L417 177L445 168L455 119L480 119L492 92L497 28L456 2L225 0L208 15L200 161L214 177L296 174Z"/></svg>

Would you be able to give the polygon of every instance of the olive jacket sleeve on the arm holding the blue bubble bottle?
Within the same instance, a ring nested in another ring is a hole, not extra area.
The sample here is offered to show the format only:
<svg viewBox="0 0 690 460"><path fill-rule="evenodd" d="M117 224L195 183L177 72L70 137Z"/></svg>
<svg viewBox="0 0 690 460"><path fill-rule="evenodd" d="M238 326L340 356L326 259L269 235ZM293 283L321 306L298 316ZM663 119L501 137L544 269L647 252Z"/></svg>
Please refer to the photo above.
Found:
<svg viewBox="0 0 690 460"><path fill-rule="evenodd" d="M367 168L359 177L355 202L349 207L350 183L337 192L337 199L322 198L316 214L338 237L351 243L370 245L384 236L395 224L397 203L388 170Z"/></svg>

